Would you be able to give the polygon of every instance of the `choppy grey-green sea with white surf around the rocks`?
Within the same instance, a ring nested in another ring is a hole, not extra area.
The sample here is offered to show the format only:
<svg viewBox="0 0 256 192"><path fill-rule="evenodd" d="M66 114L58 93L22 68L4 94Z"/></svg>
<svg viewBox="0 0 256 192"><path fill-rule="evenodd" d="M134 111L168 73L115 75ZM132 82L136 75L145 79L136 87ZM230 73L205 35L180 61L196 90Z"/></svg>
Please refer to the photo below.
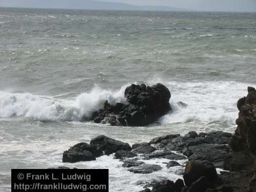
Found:
<svg viewBox="0 0 256 192"><path fill-rule="evenodd" d="M165 159L147 160L163 169L141 175L113 155L69 164L62 152L102 134L133 144L232 133L237 100L256 86L255 62L255 13L0 8L0 190L10 191L11 168L109 168L110 191L180 178ZM165 84L173 112L144 127L79 121L142 82Z"/></svg>

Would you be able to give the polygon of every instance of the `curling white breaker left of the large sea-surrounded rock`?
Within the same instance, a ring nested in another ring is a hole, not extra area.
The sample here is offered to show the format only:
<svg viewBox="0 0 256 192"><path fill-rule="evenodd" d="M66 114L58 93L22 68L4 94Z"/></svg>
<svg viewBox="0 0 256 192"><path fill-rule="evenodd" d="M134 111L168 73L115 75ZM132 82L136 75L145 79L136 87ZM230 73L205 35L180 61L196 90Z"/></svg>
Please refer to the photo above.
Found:
<svg viewBox="0 0 256 192"><path fill-rule="evenodd" d="M0 117L24 116L40 120L76 121L83 116L90 117L93 111L103 108L106 100L111 104L125 102L124 88L112 92L95 87L74 99L0 92Z"/></svg>

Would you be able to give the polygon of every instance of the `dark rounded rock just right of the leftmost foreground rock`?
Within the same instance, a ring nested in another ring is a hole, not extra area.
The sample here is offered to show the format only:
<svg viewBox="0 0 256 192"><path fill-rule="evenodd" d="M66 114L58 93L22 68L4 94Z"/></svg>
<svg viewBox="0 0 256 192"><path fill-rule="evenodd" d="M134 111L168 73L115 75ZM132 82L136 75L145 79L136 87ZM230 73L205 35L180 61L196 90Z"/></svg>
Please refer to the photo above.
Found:
<svg viewBox="0 0 256 192"><path fill-rule="evenodd" d="M98 146L105 155L110 155L119 150L131 151L132 147L128 143L118 141L104 135L100 135L90 141L90 144Z"/></svg>

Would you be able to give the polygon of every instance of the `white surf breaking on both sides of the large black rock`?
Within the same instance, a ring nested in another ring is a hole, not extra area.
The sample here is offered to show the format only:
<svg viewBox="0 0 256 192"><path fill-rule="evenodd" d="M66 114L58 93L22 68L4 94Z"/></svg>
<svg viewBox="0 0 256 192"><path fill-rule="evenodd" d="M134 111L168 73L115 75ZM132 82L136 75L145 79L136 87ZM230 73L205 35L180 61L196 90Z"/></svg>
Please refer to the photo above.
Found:
<svg viewBox="0 0 256 192"><path fill-rule="evenodd" d="M160 118L163 124L191 121L234 124L238 113L237 100L246 95L246 88L249 86L244 83L224 81L163 83L172 93L170 104L173 109ZM0 92L0 117L24 116L38 120L79 121L83 116L89 118L92 112L102 109L106 100L111 104L125 103L126 86L116 91L95 86L89 92L68 99L30 93ZM178 101L185 102L188 106L182 108L177 104Z"/></svg>

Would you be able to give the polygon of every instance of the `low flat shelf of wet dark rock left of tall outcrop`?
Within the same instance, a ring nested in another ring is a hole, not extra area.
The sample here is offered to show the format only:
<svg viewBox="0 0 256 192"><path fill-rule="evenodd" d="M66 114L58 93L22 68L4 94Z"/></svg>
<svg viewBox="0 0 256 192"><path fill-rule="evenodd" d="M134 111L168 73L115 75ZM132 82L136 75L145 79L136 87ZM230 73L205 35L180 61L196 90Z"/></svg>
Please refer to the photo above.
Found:
<svg viewBox="0 0 256 192"><path fill-rule="evenodd" d="M226 132L199 133L189 132L185 136L166 135L151 140L157 148L163 148L164 152L151 153L145 156L150 158L166 158L170 160L185 159L184 156L174 154L178 151L189 160L212 162L217 167L223 167L224 159L231 152L227 145L232 134ZM165 154L167 153L167 154Z"/></svg>

